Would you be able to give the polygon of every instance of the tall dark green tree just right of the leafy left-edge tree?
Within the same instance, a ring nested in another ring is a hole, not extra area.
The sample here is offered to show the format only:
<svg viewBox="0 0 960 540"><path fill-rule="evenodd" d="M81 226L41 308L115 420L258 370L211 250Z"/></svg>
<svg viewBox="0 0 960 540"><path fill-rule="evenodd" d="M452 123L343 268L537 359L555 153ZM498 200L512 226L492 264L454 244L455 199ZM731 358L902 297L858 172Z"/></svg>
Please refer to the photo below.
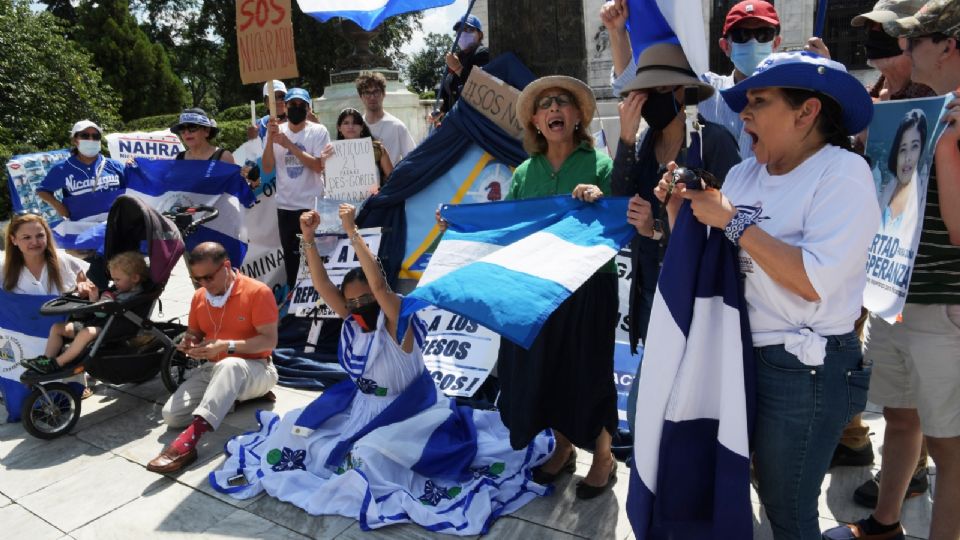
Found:
<svg viewBox="0 0 960 540"><path fill-rule="evenodd" d="M85 0L77 8L75 39L120 93L120 115L139 118L180 110L187 101L163 46L137 26L127 0Z"/></svg>

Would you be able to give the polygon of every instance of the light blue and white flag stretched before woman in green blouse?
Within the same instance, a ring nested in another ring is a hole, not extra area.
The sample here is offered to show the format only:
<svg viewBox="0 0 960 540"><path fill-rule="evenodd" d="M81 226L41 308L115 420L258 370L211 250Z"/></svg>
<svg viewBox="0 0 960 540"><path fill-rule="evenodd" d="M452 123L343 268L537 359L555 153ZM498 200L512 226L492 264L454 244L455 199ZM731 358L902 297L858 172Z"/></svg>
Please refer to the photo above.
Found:
<svg viewBox="0 0 960 540"><path fill-rule="evenodd" d="M444 205L448 229L403 299L400 321L433 305L529 348L550 314L636 234L624 218L627 200Z"/></svg>

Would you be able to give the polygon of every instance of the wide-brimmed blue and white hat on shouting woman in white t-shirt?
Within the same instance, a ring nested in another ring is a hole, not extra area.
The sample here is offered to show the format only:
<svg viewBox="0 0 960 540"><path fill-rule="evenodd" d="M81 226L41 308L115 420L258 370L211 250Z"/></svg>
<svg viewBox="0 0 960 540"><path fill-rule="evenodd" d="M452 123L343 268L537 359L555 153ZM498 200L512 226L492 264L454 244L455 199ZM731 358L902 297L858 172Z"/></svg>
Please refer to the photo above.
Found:
<svg viewBox="0 0 960 540"><path fill-rule="evenodd" d="M843 64L806 51L771 54L753 75L720 94L731 109L740 112L752 88L797 88L829 96L840 104L850 135L863 131L873 119L873 100L863 84Z"/></svg>

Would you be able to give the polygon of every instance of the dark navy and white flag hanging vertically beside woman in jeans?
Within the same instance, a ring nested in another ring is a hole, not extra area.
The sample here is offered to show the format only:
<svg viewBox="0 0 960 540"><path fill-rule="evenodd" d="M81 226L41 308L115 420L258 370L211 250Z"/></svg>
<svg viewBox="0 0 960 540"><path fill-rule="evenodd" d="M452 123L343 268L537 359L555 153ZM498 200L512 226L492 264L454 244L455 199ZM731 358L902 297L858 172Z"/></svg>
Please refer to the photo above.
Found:
<svg viewBox="0 0 960 540"><path fill-rule="evenodd" d="M627 516L637 540L753 537L753 346L736 248L684 203L640 364Z"/></svg>

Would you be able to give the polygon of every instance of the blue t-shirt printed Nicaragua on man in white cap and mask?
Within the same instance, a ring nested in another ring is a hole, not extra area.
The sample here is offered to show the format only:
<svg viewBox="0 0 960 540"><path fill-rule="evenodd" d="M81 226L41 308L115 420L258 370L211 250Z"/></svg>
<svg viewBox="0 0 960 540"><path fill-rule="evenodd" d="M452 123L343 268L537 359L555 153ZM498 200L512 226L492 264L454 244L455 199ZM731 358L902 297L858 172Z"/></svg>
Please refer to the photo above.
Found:
<svg viewBox="0 0 960 540"><path fill-rule="evenodd" d="M73 221L110 211L117 195L123 193L127 181L124 165L117 160L98 155L87 165L70 156L47 173L37 191L62 191L63 205Z"/></svg>

